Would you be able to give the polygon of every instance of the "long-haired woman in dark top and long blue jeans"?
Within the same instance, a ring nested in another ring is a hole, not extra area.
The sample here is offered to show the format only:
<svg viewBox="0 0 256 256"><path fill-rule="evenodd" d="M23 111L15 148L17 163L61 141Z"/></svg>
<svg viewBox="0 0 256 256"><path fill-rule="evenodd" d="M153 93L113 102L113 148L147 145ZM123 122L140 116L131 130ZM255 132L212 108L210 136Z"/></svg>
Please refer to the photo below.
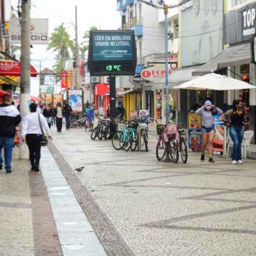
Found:
<svg viewBox="0 0 256 256"><path fill-rule="evenodd" d="M222 115L222 120L229 127L229 135L234 143L232 151L232 164L242 162L242 140L244 124L247 123L245 111L241 100L234 100L233 107Z"/></svg>

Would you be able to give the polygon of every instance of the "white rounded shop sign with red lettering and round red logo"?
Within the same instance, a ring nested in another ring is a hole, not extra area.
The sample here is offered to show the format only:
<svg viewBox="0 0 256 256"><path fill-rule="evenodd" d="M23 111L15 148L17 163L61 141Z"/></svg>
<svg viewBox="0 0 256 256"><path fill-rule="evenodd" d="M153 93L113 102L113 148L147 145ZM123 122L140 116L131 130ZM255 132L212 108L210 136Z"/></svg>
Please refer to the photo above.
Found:
<svg viewBox="0 0 256 256"><path fill-rule="evenodd" d="M172 69L169 69L169 76L172 73ZM150 82L164 83L165 82L165 66L159 65L142 70L142 78L149 80Z"/></svg>

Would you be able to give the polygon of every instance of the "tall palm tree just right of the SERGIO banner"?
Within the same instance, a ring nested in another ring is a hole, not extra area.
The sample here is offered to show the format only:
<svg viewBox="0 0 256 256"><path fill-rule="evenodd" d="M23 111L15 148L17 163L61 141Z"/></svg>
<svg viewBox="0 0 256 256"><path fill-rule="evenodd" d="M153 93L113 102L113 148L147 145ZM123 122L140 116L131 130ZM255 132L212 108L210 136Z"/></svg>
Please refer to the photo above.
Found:
<svg viewBox="0 0 256 256"><path fill-rule="evenodd" d="M57 72L57 76L60 76L60 73L64 71L65 61L71 58L70 51L74 50L74 42L70 39L63 23L51 34L47 50L52 50L56 54L54 71Z"/></svg>

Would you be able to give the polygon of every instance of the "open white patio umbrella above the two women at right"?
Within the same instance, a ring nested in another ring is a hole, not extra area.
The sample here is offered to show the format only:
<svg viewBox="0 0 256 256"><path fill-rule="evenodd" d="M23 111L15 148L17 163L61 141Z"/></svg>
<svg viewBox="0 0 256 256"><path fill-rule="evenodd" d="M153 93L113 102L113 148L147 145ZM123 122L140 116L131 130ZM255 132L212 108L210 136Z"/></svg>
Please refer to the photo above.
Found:
<svg viewBox="0 0 256 256"><path fill-rule="evenodd" d="M242 90L242 89L256 89L256 86L245 83L241 80L234 79L225 75L210 73L197 77L184 84L174 86L174 89L186 90Z"/></svg>

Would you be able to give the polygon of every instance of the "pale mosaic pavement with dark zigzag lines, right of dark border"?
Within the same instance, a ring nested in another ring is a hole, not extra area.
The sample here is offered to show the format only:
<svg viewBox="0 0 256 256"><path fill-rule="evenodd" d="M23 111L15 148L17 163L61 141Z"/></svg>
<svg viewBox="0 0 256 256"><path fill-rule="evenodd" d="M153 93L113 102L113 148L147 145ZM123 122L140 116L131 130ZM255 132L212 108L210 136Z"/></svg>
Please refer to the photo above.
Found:
<svg viewBox="0 0 256 256"><path fill-rule="evenodd" d="M91 141L74 129L54 138L77 177L91 192L134 255L256 255L256 168L156 160L149 152L115 151L109 141Z"/></svg>

